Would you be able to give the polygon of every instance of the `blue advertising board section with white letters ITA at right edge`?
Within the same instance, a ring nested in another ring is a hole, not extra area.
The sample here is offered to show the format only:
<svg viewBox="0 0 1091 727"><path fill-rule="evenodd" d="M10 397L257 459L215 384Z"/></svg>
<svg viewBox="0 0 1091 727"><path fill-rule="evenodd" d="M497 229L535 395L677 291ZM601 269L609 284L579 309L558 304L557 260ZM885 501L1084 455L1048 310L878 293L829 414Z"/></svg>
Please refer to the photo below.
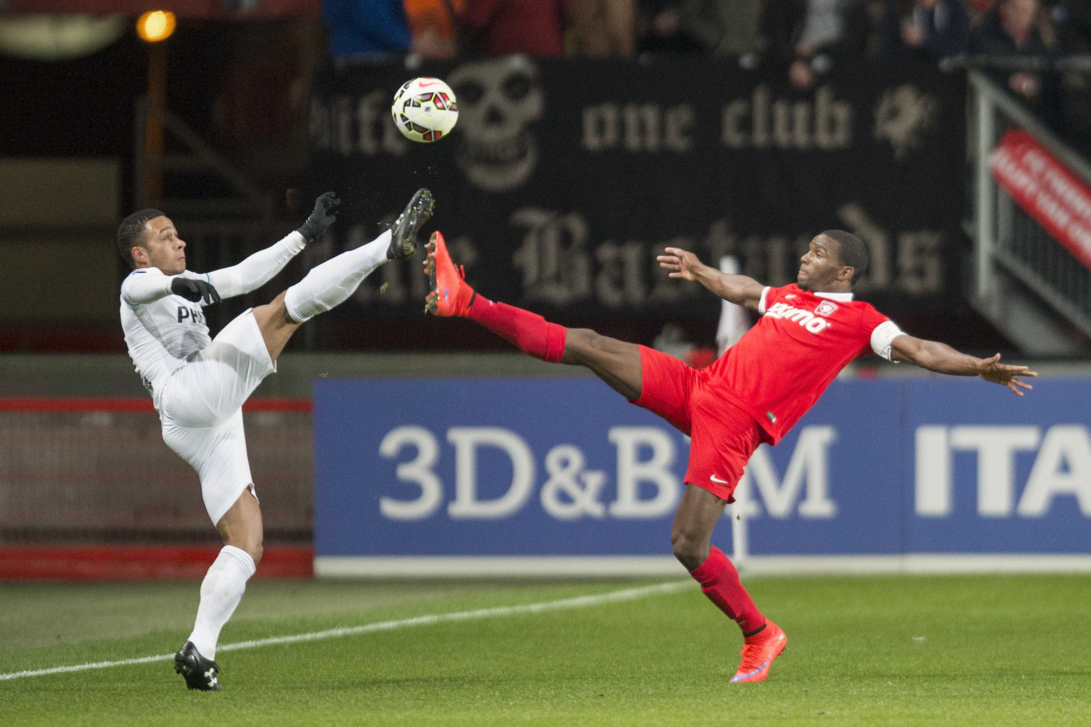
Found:
<svg viewBox="0 0 1091 727"><path fill-rule="evenodd" d="M1091 553L1091 381L988 386L906 384L907 550Z"/></svg>

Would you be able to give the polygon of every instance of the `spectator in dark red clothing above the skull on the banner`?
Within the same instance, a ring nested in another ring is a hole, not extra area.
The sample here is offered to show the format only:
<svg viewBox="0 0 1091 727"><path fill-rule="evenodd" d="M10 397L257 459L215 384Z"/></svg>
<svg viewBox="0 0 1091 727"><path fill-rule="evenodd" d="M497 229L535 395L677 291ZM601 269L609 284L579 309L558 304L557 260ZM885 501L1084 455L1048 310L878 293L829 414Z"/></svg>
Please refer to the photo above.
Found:
<svg viewBox="0 0 1091 727"><path fill-rule="evenodd" d="M466 0L460 25L485 56L561 56L562 0Z"/></svg>

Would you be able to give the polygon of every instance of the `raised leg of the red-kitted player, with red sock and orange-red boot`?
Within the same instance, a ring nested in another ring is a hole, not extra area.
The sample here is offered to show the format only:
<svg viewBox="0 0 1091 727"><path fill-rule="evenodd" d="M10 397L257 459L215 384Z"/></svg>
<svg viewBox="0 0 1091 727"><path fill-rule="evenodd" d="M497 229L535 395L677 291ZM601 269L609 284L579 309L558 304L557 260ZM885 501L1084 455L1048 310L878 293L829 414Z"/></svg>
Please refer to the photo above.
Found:
<svg viewBox="0 0 1091 727"><path fill-rule="evenodd" d="M428 243L424 272L432 287L427 312L476 320L524 353L550 363L586 366L630 401L640 398L640 348L635 343L587 328L565 328L537 313L478 295L451 259L440 232L433 232Z"/></svg>

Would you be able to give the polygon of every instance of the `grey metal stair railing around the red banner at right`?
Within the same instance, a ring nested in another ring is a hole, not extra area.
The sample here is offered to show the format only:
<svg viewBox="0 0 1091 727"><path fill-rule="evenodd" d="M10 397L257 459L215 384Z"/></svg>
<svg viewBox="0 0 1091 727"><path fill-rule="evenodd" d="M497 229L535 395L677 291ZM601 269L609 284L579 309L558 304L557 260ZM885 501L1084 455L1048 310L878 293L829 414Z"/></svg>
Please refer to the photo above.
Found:
<svg viewBox="0 0 1091 727"><path fill-rule="evenodd" d="M1091 271L997 184L990 156L1004 132L1021 129L1089 184L1091 163L980 71L969 73L969 90L974 302L1029 352L1086 351L1079 339L1091 339ZM1011 278L1021 288L1009 284ZM1021 304L1023 289L1034 300Z"/></svg>

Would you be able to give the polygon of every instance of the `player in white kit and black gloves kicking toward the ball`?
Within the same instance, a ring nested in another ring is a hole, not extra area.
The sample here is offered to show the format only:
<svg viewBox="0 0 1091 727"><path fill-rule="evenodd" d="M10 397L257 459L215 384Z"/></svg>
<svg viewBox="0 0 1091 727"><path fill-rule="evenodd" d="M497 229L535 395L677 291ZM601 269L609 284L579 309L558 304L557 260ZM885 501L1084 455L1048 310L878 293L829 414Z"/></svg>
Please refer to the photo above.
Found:
<svg viewBox="0 0 1091 727"><path fill-rule="evenodd" d="M129 355L152 395L163 440L196 470L205 509L224 548L201 583L193 632L175 655L190 689L218 690L216 642L262 557L257 505L242 403L276 371L297 328L344 302L375 268L406 259L432 214L419 190L391 230L315 266L272 303L251 308L209 338L202 307L242 295L284 269L336 219L339 201L323 194L299 230L238 265L207 274L185 269L185 243L157 209L127 217L118 229L122 256L135 268L121 283L121 325Z"/></svg>

